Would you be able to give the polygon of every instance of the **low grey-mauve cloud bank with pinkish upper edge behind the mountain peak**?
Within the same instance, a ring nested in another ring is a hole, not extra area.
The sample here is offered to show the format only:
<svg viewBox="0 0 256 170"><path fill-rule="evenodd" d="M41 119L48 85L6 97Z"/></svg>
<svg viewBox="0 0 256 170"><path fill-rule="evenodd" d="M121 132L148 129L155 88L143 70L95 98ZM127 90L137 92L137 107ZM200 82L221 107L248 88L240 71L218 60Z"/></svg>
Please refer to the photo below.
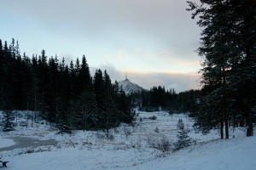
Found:
<svg viewBox="0 0 256 170"><path fill-rule="evenodd" d="M96 67L91 67L92 76L95 74ZM188 73L172 73L172 72L147 72L126 70L120 71L112 64L100 65L102 71L107 70L112 82L122 81L127 74L131 82L137 83L139 86L150 89L158 86L164 86L167 89L174 88L176 92L183 92L189 89L199 89L200 75L195 72Z"/></svg>

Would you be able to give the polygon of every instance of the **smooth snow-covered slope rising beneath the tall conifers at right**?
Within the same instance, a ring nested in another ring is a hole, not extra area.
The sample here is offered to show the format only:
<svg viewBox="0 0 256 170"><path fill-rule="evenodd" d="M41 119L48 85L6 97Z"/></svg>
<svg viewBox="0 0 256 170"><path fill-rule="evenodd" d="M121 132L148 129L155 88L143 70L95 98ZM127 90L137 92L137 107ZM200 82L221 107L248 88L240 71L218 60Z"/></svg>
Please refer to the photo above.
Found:
<svg viewBox="0 0 256 170"><path fill-rule="evenodd" d="M256 137L244 137L197 145L131 169L253 170L256 168L255 156Z"/></svg>

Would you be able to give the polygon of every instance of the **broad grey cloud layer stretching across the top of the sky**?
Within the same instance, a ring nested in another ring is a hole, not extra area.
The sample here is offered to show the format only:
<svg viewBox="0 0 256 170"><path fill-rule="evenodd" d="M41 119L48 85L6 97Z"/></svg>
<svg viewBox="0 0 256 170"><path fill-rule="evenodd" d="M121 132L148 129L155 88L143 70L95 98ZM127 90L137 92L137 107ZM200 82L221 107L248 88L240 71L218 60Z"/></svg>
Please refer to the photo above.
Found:
<svg viewBox="0 0 256 170"><path fill-rule="evenodd" d="M114 34L116 30L137 32L157 43L171 45L178 39L198 36L198 28L185 11L185 0L16 0L4 1L22 15L56 32L72 27L86 36ZM22 17L22 16L21 16ZM111 32L113 31L113 32ZM190 31L194 33L191 34ZM195 33L197 32L197 33ZM120 37L123 38L123 37ZM125 40L123 40L125 41Z"/></svg>

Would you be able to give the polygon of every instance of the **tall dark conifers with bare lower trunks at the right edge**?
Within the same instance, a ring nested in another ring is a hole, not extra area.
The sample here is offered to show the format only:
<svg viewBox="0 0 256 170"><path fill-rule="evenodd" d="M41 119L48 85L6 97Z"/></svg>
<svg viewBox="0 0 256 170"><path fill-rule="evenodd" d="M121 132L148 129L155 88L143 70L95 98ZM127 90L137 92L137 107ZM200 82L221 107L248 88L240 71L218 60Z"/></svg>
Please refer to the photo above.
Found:
<svg viewBox="0 0 256 170"><path fill-rule="evenodd" d="M188 2L192 19L201 26L204 57L201 69L201 111L197 125L208 131L220 127L229 139L232 122L245 123L253 136L256 106L256 2L254 0L201 0ZM253 114L254 110L254 114Z"/></svg>

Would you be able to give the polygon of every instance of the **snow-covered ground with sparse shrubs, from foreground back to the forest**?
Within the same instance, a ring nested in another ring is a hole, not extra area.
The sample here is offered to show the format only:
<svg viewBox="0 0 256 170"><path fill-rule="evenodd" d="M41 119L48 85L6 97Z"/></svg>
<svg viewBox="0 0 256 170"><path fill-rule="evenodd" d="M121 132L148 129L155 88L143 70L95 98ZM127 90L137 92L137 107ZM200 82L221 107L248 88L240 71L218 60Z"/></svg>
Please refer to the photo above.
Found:
<svg viewBox="0 0 256 170"><path fill-rule="evenodd" d="M17 120L26 122L25 113ZM1 114L0 114L1 115ZM156 120L148 117L157 116ZM140 121L142 117L143 121ZM184 127L194 144L184 150L172 152L177 141L177 121L183 119ZM15 121L16 122L16 121ZM69 170L69 169L146 169L146 170L254 170L256 167L256 138L245 137L244 128L230 129L229 140L218 140L218 130L202 135L192 127L193 120L185 114L168 115L166 112L139 112L133 126L123 124L102 131L76 131L71 135L55 134L57 130L46 122L27 122L27 127L16 127L13 132L0 131L0 148L15 144L12 137L55 139L55 145L31 146L4 150L2 160L9 161L13 170ZM2 128L2 127L0 127ZM148 141L167 140L170 150L154 149Z"/></svg>

